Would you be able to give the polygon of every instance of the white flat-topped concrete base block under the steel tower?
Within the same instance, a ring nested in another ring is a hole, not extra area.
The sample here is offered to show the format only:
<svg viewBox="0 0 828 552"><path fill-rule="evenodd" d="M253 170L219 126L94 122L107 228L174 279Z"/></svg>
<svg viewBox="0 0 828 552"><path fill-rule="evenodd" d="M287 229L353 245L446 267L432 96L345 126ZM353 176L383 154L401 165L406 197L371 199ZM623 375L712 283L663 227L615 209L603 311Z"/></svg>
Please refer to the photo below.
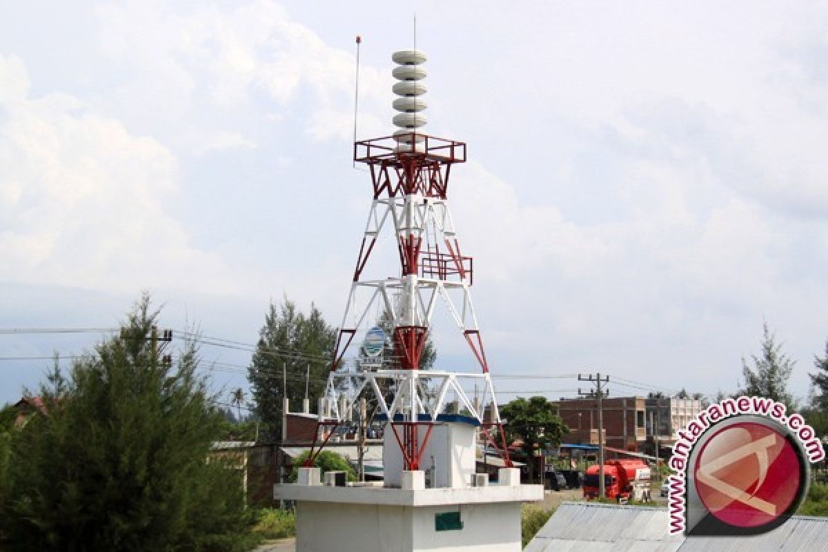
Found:
<svg viewBox="0 0 828 552"><path fill-rule="evenodd" d="M543 488L277 485L273 495L296 501L297 552L519 552L521 504L543 500Z"/></svg>

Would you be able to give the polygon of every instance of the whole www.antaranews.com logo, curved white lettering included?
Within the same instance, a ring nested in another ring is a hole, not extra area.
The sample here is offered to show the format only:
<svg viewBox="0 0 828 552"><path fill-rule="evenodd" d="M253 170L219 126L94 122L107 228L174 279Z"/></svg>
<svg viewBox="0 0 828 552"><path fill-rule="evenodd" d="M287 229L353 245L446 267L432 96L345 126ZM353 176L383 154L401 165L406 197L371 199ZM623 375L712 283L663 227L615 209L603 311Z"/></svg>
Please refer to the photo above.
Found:
<svg viewBox="0 0 828 552"><path fill-rule="evenodd" d="M780 402L725 399L678 432L670 467L672 535L757 535L784 523L806 496L816 432Z"/></svg>

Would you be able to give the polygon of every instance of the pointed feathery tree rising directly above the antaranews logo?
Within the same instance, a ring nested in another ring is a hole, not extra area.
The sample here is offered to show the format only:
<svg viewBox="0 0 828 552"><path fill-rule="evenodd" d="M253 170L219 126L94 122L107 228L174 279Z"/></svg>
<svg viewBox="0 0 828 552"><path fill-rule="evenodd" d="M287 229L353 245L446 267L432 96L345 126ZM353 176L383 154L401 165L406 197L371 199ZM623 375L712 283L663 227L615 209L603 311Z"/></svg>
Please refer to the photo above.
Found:
<svg viewBox="0 0 828 552"><path fill-rule="evenodd" d="M767 322L763 325L762 354L751 355L751 358L753 368L742 358L744 389L739 392L779 401L789 412L796 410L793 397L787 391L787 382L796 362L782 353L782 343L776 343L776 335L771 334Z"/></svg>

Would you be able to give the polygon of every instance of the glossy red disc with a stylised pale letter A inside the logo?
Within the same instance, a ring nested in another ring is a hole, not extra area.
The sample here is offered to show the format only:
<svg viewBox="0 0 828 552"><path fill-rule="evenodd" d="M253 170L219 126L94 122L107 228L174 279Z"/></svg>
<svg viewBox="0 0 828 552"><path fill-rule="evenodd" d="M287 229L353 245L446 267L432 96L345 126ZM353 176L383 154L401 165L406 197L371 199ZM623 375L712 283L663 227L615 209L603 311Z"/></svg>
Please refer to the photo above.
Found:
<svg viewBox="0 0 828 552"><path fill-rule="evenodd" d="M758 527L777 520L802 485L792 444L756 422L729 425L713 434L694 469L701 502L730 526Z"/></svg>

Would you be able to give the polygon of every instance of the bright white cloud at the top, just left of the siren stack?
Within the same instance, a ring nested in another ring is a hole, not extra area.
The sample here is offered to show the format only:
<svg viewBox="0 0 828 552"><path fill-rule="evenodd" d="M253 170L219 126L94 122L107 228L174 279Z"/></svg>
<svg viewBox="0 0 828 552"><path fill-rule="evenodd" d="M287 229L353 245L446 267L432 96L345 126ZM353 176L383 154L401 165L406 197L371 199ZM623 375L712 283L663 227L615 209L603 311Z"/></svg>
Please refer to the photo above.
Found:
<svg viewBox="0 0 828 552"><path fill-rule="evenodd" d="M118 111L188 125L198 118L199 127L212 129L182 138L182 128L171 125L166 136L174 144L206 151L216 136L237 135L246 116L259 118L267 109L265 117L280 122L297 107L306 113L308 137L351 137L354 55L325 44L275 2L179 12L156 2L128 2L99 7L98 16L103 50L131 68L118 87ZM383 128L378 113L390 113L391 78L363 66L360 80L360 127L375 132ZM134 98L142 102L136 105ZM206 143L193 143L201 134ZM233 145L249 146L250 138Z"/></svg>

